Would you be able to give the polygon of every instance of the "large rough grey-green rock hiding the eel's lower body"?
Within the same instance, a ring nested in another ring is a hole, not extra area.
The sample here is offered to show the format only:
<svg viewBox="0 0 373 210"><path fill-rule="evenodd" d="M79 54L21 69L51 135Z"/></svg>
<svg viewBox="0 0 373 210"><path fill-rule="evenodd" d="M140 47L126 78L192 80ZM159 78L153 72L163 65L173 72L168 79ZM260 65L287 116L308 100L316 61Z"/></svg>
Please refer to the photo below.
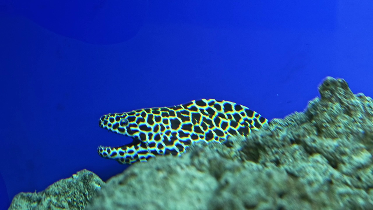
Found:
<svg viewBox="0 0 373 210"><path fill-rule="evenodd" d="M112 177L87 210L373 209L373 101L327 77L304 112Z"/></svg>

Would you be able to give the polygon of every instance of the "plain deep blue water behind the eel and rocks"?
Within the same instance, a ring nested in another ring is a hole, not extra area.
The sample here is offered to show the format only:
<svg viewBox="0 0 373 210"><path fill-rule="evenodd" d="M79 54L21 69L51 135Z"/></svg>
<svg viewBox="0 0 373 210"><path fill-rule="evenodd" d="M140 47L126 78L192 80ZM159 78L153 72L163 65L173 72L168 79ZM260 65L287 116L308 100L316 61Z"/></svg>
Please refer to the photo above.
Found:
<svg viewBox="0 0 373 210"><path fill-rule="evenodd" d="M109 112L216 98L279 118L328 75L373 95L370 1L0 2L3 209L81 169L126 169L96 152L131 141L98 127Z"/></svg>

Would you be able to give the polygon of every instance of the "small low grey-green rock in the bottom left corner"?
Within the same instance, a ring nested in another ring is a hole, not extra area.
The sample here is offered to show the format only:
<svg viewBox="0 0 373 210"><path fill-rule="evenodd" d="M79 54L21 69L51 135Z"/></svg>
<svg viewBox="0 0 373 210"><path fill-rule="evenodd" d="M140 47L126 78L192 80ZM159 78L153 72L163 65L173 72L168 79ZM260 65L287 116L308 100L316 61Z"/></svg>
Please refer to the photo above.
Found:
<svg viewBox="0 0 373 210"><path fill-rule="evenodd" d="M84 169L44 191L17 194L9 210L81 210L103 184L100 177Z"/></svg>

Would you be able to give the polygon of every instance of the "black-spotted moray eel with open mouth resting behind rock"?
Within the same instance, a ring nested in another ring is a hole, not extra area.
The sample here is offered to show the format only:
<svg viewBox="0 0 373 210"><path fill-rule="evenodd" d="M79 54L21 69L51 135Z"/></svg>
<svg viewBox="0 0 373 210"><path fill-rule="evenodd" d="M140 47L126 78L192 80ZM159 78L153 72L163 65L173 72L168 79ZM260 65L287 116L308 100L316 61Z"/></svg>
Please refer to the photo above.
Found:
<svg viewBox="0 0 373 210"><path fill-rule="evenodd" d="M181 155L194 142L221 143L228 136L247 136L267 122L245 106L215 99L107 114L98 121L100 127L133 141L119 147L99 146L97 152L122 164L144 162L157 155Z"/></svg>

